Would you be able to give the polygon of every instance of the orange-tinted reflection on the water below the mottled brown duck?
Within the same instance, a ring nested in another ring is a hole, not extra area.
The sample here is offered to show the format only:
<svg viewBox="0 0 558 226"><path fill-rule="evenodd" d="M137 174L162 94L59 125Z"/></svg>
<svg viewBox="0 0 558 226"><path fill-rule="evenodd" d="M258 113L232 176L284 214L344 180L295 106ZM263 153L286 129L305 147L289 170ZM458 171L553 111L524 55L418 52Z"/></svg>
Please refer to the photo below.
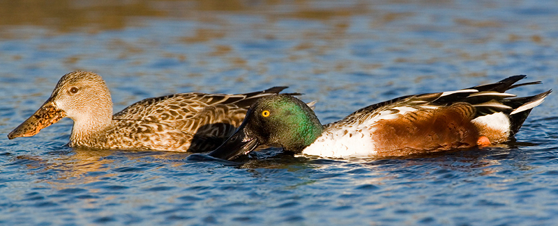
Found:
<svg viewBox="0 0 558 226"><path fill-rule="evenodd" d="M24 166L32 175L50 175L36 182L58 184L62 189L100 181L100 178L117 177L121 172L142 172L160 166L171 168L182 166L182 160L188 156L188 154L172 152L130 152L70 147L45 152L44 155L14 156L8 166ZM145 167L126 169L126 164L130 166L144 164Z"/></svg>

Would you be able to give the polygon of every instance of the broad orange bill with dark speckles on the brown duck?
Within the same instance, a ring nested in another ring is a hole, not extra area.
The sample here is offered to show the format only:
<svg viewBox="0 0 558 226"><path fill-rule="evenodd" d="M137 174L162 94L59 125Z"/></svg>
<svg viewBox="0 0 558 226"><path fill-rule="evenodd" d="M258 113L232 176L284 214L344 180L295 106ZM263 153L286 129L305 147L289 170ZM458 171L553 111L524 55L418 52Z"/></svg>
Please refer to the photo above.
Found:
<svg viewBox="0 0 558 226"><path fill-rule="evenodd" d="M17 128L8 134L9 139L22 137L22 136L33 136L38 134L39 131L45 127L58 122L62 118L66 117L66 113L58 108L53 102L46 102L41 106L31 117L29 117L25 122L22 122Z"/></svg>

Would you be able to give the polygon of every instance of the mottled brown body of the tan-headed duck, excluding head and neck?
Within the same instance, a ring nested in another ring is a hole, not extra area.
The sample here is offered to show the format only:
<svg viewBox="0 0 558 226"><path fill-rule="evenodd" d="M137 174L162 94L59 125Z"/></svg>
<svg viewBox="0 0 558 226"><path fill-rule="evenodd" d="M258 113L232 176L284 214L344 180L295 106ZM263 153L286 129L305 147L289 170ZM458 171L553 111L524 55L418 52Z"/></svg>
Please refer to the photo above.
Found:
<svg viewBox="0 0 558 226"><path fill-rule="evenodd" d="M212 150L234 133L256 99L285 88L239 95L188 92L143 99L113 115L113 133L119 134L114 138L145 144L151 150Z"/></svg>

